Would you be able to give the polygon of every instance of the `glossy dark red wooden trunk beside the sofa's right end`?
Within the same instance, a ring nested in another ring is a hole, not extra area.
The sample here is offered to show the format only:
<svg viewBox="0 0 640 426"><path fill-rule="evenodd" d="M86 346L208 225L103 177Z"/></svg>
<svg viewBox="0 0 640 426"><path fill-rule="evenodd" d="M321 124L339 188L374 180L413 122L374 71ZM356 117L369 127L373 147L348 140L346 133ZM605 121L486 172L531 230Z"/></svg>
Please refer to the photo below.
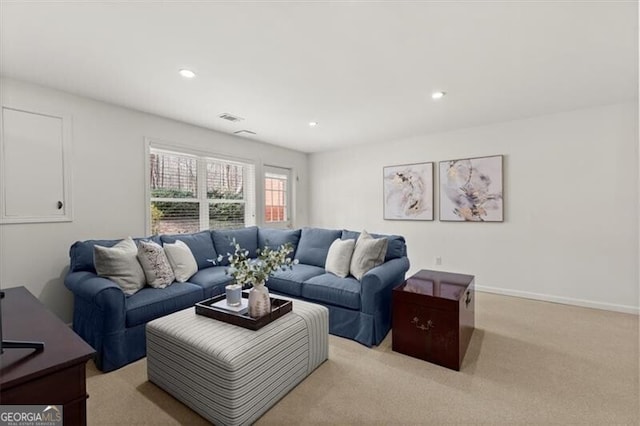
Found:
<svg viewBox="0 0 640 426"><path fill-rule="evenodd" d="M393 290L393 350L460 370L474 304L472 275L419 271Z"/></svg>

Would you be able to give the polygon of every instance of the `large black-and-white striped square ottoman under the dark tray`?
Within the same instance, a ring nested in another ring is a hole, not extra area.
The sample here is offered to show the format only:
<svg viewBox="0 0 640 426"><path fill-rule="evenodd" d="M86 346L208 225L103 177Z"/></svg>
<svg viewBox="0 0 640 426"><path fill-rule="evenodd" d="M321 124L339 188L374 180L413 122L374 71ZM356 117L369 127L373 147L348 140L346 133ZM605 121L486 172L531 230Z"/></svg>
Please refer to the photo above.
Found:
<svg viewBox="0 0 640 426"><path fill-rule="evenodd" d="M293 311L257 331L185 309L147 324L149 380L209 421L250 424L328 357L327 308Z"/></svg>

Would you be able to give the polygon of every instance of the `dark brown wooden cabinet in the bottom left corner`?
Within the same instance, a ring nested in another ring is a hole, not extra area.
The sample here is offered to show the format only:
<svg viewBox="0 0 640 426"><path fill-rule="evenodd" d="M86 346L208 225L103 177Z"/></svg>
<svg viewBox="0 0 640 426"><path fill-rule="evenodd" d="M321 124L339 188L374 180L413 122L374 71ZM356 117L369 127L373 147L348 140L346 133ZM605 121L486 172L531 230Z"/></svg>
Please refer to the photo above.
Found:
<svg viewBox="0 0 640 426"><path fill-rule="evenodd" d="M0 355L0 401L62 405L65 425L87 422L85 364L95 351L27 289L5 290L2 336L44 342L42 351L5 349Z"/></svg>

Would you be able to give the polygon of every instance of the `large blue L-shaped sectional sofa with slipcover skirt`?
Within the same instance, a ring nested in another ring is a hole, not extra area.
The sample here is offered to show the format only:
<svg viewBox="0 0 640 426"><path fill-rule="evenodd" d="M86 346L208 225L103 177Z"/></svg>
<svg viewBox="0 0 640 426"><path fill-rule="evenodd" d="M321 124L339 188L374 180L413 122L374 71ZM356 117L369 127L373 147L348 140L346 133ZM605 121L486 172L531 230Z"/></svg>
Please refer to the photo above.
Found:
<svg viewBox="0 0 640 426"><path fill-rule="evenodd" d="M95 362L102 371L111 371L146 355L147 322L193 306L196 302L222 294L231 277L224 262L214 266L211 259L232 251L235 240L256 256L258 248L291 243L299 263L291 270L278 271L267 287L274 294L319 303L329 308L329 332L364 345L379 344L391 328L391 290L409 270L405 240L387 235L385 262L362 277L339 278L324 269L331 243L357 239L347 230L303 228L280 230L248 227L193 234L155 235L134 240L172 243L179 239L191 249L198 272L187 282L174 282L162 289L144 287L125 295L113 281L96 274L95 245L111 247L120 240L78 241L70 249L69 273L65 285L74 295L73 329L96 350Z"/></svg>

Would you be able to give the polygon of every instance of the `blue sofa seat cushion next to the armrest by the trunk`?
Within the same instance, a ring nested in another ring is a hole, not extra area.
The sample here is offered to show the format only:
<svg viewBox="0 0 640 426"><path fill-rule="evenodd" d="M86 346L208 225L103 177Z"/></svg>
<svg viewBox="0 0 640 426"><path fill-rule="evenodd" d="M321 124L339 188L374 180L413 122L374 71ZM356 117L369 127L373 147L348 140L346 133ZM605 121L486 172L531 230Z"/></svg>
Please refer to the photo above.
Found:
<svg viewBox="0 0 640 426"><path fill-rule="evenodd" d="M302 297L349 309L360 309L360 282L353 277L322 274L302 284Z"/></svg>

